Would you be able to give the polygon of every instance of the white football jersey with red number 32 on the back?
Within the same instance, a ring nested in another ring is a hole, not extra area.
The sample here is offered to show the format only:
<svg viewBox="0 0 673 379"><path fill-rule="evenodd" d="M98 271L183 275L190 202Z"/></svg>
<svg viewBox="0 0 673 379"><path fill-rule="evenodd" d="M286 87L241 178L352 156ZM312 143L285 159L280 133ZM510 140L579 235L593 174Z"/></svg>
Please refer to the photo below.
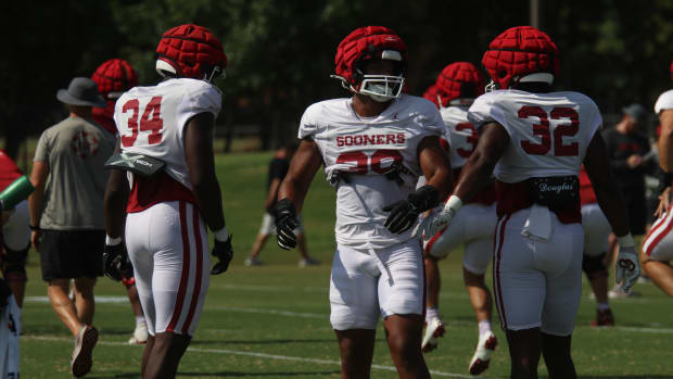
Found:
<svg viewBox="0 0 673 379"><path fill-rule="evenodd" d="M474 100L468 119L478 128L496 122L509 134L510 143L494 174L510 184L532 177L576 176L602 123L592 99L570 91L488 92Z"/></svg>

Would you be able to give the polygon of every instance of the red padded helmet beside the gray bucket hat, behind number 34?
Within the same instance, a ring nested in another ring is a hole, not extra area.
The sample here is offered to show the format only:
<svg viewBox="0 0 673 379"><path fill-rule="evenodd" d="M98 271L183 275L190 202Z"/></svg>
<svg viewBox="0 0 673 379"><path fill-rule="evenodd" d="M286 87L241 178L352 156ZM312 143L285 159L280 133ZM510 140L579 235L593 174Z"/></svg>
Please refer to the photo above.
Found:
<svg viewBox="0 0 673 379"><path fill-rule="evenodd" d="M117 99L125 91L138 86L138 73L128 62L117 58L103 62L91 80L98 85L98 91L105 99Z"/></svg>

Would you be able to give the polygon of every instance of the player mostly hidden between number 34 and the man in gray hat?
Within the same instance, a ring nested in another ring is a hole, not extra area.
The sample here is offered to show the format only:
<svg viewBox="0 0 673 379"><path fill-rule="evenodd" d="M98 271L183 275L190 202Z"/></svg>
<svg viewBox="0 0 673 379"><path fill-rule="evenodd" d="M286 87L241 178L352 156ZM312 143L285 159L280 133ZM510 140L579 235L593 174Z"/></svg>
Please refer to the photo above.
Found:
<svg viewBox="0 0 673 379"><path fill-rule="evenodd" d="M106 103L105 108L93 108L91 115L97 123L116 135L117 127L113 118L114 105L122 93L138 85L138 74L128 62L114 58L98 66L93 75L91 75L91 80L96 81L98 91L105 99ZM138 289L136 289L132 267L129 266L129 269L124 274L126 275L122 278L122 283L126 287L126 294L136 317L136 329L128 343L142 344L148 342L148 325L142 313L140 299L138 299Z"/></svg>

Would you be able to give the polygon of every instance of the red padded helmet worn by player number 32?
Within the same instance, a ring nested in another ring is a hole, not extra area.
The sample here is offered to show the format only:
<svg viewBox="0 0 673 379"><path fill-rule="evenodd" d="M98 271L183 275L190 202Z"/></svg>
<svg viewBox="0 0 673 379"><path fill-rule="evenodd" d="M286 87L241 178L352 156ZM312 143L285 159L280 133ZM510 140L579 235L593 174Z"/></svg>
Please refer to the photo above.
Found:
<svg viewBox="0 0 673 379"><path fill-rule="evenodd" d="M481 62L499 89L510 88L522 77L537 73L544 75L535 81L550 83L559 71L556 45L532 26L516 26L503 31L488 45Z"/></svg>

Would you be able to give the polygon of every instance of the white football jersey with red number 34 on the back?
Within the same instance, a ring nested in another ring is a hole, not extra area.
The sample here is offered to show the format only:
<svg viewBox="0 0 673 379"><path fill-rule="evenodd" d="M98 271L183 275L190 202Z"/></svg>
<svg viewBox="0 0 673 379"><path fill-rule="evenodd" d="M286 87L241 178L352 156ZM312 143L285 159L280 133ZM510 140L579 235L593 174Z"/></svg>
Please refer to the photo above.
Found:
<svg viewBox="0 0 673 379"><path fill-rule="evenodd" d="M135 87L115 105L122 151L164 161L166 174L191 190L185 160L185 126L200 113L209 112L217 117L220 105L219 90L203 80L179 78L153 87Z"/></svg>

